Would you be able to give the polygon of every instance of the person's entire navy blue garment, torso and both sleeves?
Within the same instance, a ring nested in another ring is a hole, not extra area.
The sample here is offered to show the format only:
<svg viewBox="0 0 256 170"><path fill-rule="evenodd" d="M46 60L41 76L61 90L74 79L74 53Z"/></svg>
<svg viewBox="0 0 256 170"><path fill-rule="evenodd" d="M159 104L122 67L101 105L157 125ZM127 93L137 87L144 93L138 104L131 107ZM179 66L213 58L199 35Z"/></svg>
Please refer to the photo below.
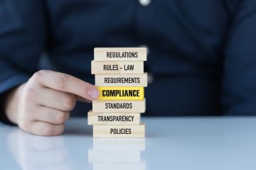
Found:
<svg viewBox="0 0 256 170"><path fill-rule="evenodd" d="M255 0L1 0L0 97L39 69L93 84L93 47L141 45L145 115L256 114Z"/></svg>

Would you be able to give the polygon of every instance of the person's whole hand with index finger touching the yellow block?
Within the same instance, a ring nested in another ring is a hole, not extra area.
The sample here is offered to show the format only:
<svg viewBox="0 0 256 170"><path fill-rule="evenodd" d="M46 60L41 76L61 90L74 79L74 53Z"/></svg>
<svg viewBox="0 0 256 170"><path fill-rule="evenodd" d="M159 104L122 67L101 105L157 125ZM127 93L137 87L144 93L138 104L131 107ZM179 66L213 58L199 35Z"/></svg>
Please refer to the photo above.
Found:
<svg viewBox="0 0 256 170"><path fill-rule="evenodd" d="M22 130L43 136L60 135L78 100L97 99L99 91L68 74L41 70L6 98L6 116Z"/></svg>

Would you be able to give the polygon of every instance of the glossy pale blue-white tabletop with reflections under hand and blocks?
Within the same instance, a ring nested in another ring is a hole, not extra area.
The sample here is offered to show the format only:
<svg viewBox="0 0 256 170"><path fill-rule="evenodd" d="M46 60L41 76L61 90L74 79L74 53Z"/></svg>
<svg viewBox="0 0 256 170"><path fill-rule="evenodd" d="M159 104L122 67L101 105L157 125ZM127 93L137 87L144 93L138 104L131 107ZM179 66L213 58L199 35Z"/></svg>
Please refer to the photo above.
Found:
<svg viewBox="0 0 256 170"><path fill-rule="evenodd" d="M146 139L93 139L85 118L56 137L0 124L0 169L256 169L256 117L142 121Z"/></svg>

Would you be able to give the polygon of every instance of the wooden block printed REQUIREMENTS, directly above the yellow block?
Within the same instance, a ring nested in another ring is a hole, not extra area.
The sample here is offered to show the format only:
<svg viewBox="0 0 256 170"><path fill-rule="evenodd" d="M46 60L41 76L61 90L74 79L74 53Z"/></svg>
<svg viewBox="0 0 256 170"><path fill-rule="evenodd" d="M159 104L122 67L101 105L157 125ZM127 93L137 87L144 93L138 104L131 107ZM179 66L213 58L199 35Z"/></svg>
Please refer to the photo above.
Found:
<svg viewBox="0 0 256 170"><path fill-rule="evenodd" d="M95 74L95 86L147 86L147 73Z"/></svg>

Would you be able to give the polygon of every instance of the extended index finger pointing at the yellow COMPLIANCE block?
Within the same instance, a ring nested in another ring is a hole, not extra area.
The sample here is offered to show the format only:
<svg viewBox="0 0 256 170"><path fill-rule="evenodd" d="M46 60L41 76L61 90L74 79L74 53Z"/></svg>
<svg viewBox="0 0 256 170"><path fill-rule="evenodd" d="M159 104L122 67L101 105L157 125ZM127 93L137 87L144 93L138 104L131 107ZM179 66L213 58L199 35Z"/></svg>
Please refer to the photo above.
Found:
<svg viewBox="0 0 256 170"><path fill-rule="evenodd" d="M100 96L95 86L68 74L50 70L41 70L38 74L41 84L50 89L68 92L89 100L95 100Z"/></svg>

